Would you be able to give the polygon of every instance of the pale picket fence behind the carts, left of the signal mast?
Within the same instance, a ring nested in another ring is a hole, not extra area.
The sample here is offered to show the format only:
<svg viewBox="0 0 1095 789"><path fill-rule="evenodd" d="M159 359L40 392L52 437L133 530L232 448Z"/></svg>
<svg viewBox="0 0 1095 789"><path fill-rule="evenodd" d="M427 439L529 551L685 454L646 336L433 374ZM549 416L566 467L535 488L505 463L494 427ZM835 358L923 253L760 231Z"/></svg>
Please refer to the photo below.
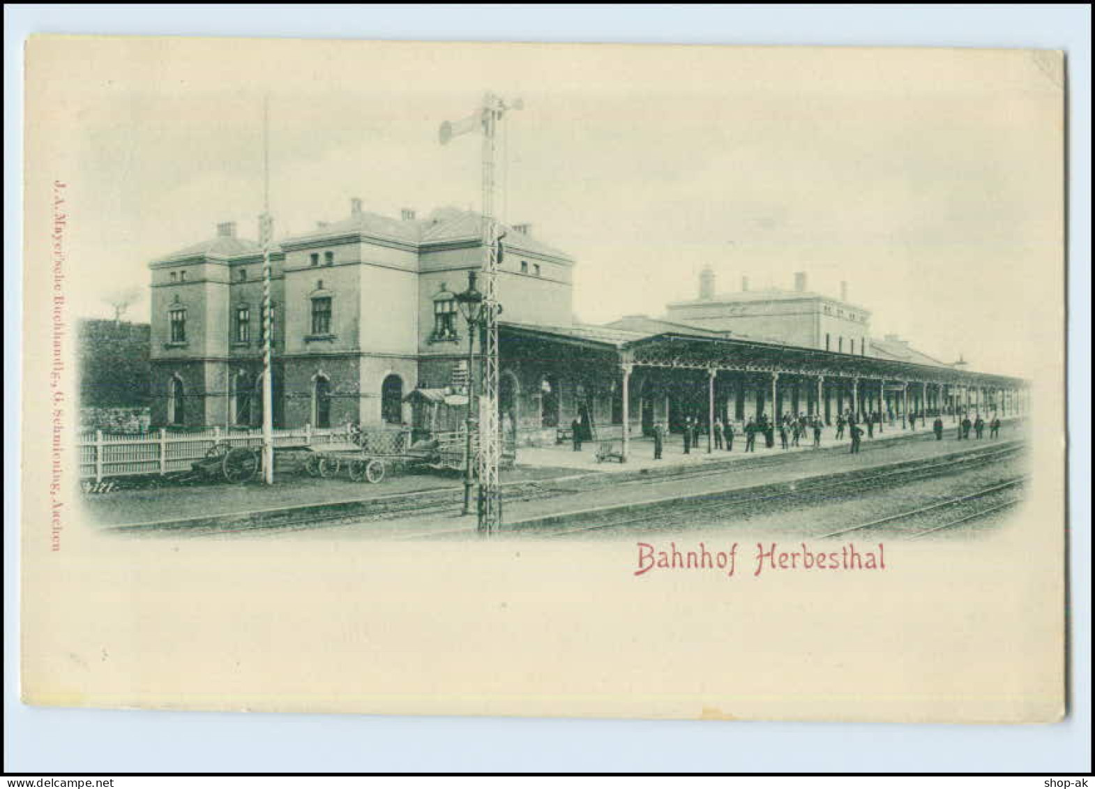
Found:
<svg viewBox="0 0 1095 789"><path fill-rule="evenodd" d="M410 446L410 431L369 430L364 434L373 445L384 445L393 454ZM322 446L345 444L345 427L316 428L310 425L293 430L274 431L274 447ZM102 482L111 477L137 474L166 474L187 471L195 460L217 444L230 447L261 447L263 433L257 428L208 430L175 433L158 430L141 434L110 434L89 431L80 434L77 446L80 453L80 479Z"/></svg>

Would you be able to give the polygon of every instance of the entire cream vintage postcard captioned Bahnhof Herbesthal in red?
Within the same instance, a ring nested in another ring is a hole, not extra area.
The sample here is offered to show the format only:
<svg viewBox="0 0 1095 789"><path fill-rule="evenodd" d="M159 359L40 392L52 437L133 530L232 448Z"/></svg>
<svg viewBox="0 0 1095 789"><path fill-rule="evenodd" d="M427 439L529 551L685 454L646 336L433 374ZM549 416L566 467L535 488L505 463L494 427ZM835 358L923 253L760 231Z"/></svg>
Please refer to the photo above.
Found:
<svg viewBox="0 0 1095 789"><path fill-rule="evenodd" d="M31 38L23 699L1061 719L1064 95Z"/></svg>

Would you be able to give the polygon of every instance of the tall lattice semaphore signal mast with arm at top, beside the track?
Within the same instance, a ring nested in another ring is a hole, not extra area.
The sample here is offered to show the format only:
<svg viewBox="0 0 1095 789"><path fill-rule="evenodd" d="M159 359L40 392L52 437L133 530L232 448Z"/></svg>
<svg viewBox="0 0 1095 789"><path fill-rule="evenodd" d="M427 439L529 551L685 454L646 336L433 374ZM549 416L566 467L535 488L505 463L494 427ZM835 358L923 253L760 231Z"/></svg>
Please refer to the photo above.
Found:
<svg viewBox="0 0 1095 789"><path fill-rule="evenodd" d="M494 93L483 98L483 105L462 121L441 124L439 138L446 145L453 137L483 133L483 382L480 391L479 450L479 530L491 535L502 526L502 435L498 424L498 302L499 263L498 225L494 216L495 137L498 123L509 110L520 110L520 99L506 102Z"/></svg>

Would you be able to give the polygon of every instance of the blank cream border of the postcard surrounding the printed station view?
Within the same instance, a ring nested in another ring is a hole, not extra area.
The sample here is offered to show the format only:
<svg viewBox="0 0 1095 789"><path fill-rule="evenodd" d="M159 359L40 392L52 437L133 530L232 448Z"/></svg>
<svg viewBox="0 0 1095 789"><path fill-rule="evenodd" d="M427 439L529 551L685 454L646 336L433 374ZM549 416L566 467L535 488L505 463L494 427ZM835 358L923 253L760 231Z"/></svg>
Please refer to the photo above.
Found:
<svg viewBox="0 0 1095 789"><path fill-rule="evenodd" d="M558 90L673 93L762 60L803 73L864 52L38 38L27 46L24 304L45 305L53 184L71 205L67 293L104 228L73 180L104 93L292 93L347 73L466 90L551 73ZM1025 52L890 50L925 83L1014 96L1044 214L1018 276L1038 309L1008 346L1034 380L1029 500L991 539L895 546L886 574L635 579L634 544L119 542L67 510L49 550L47 309L25 311L23 694L32 704L738 719L1048 721L1063 711L1063 64ZM867 59L869 62L869 58ZM1048 70L1047 70L1048 66ZM854 70L854 69L853 69ZM863 71L868 82L874 77ZM660 80L660 82L659 82ZM506 80L503 80L505 82ZM505 89L507 85L498 85ZM701 91L702 92L702 91ZM884 119L879 119L883 123ZM136 161L134 167L145 163ZM1056 229L1056 230L1054 230ZM1047 232L1052 231L1052 232ZM990 261L978 265L989 266ZM988 271L988 268L986 270ZM993 279L982 298L992 298ZM74 306L74 305L73 305ZM71 347L70 347L71 350ZM69 377L60 387L72 392ZM74 405L68 402L71 408ZM71 453L66 455L71 468ZM71 483L71 473L68 474ZM74 492L73 492L74 493ZM76 502L74 494L69 502Z"/></svg>

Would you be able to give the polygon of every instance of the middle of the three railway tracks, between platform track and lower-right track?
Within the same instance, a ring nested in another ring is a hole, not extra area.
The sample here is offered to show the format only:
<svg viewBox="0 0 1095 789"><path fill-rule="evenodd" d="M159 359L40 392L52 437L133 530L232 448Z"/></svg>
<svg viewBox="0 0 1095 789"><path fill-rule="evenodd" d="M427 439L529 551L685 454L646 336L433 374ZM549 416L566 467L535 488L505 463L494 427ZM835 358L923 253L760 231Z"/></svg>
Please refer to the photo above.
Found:
<svg viewBox="0 0 1095 789"><path fill-rule="evenodd" d="M986 450L964 455L958 458L947 460L933 460L904 465L901 468L888 469L878 473L865 476L848 474L846 479L831 478L816 482L805 482L802 484L789 484L784 490L763 492L759 494L734 495L733 491L726 494L713 494L705 496L698 502L682 501L679 498L667 499L657 502L647 502L643 506L643 512L623 517L609 517L600 523L585 523L580 526L557 529L553 531L539 533L537 536L543 537L565 537L569 535L602 531L607 529L624 527L642 527L644 525L657 525L659 528L670 528L673 525L690 525L698 515L706 512L718 512L724 517L734 510L748 510L757 506L771 506L773 503L800 504L803 501L818 501L825 499L848 498L849 495L862 495L866 491L878 490L896 484L907 484L922 479L930 479L955 471L965 471L990 462L1014 457L1023 449L1022 445L1013 445L994 450ZM653 507L653 510L652 510ZM861 527L869 526L865 524ZM826 535L829 536L829 535Z"/></svg>

